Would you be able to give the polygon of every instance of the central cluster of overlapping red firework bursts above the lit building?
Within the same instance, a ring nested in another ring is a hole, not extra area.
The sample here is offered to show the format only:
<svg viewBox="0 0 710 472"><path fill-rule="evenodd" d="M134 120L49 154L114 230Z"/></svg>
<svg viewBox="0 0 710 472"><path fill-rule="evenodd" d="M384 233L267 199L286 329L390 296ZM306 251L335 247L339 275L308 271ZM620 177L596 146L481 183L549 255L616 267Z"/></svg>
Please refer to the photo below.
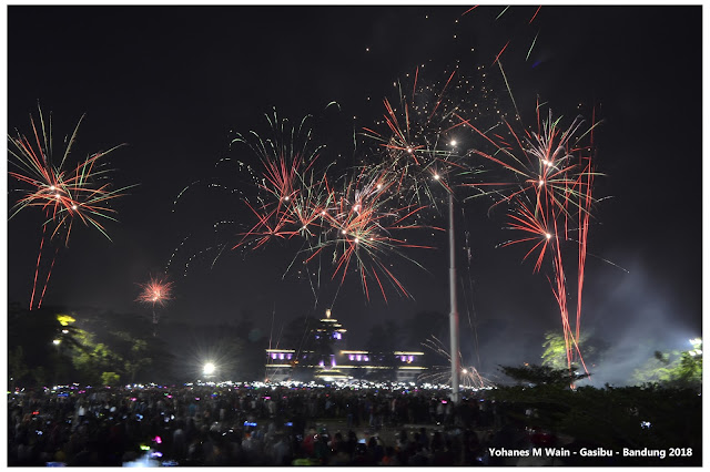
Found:
<svg viewBox="0 0 710 472"><path fill-rule="evenodd" d="M396 116L393 119L392 130L400 130ZM297 259L302 259L304 266L316 263L320 274L321 256L332 252L329 279L337 280L338 290L352 271L358 275L367 299L375 284L387 300L385 281L399 295L410 297L387 267L385 258L396 255L413 261L402 253L403 249L429 248L407 243L397 235L432 229L417 223L424 206L397 204L400 197L396 191L397 179L392 171L383 167L375 171L367 166L355 168L354 176L346 174L339 177L342 185L333 186L328 173L335 167L329 163L322 171L314 168L318 152L324 146L310 151L314 147L308 144L311 131L305 131L303 123L297 132L292 131L285 120L274 115L270 124L280 133L275 133L273 140L263 140L253 132L251 141L242 135L234 140L235 143L247 144L258 156L262 170L257 189L265 192L266 197L260 198L258 205L244 202L256 220L248 230L239 235L240 240L233 248L250 245L256 249L272 239L300 237L302 248L286 273ZM398 140L406 142L406 133L402 132ZM306 270L311 280L311 270Z"/></svg>

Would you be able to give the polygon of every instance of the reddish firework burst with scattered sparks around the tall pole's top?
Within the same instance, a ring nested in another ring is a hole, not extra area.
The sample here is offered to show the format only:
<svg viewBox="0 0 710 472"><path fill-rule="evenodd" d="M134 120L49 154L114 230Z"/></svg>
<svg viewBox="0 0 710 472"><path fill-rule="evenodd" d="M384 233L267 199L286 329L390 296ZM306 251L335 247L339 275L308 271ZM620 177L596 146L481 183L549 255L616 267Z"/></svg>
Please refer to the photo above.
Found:
<svg viewBox="0 0 710 472"><path fill-rule="evenodd" d="M458 174L469 172L457 152L455 136L462 125L457 114L466 111L477 121L495 114L496 103L485 69L479 66L476 74L465 75L454 68L440 83L427 83L417 68L410 92L396 82L396 96L384 99L383 120L363 127L366 142L375 144L371 157L376 160L366 165L374 175L396 181L393 192L410 203L437 207L453 192Z"/></svg>

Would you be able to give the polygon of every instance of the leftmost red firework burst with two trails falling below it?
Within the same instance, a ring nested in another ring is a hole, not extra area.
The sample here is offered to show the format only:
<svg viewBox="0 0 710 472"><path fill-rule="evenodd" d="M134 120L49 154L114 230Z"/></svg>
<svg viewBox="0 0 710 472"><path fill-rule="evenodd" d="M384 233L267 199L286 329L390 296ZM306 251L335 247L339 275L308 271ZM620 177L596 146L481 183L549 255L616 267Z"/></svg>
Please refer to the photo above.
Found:
<svg viewBox="0 0 710 472"><path fill-rule="evenodd" d="M71 137L67 140L67 146L58 166L53 164L54 150L52 145L51 114L45 122L42 110L39 109L39 123L41 125L39 130L33 116L30 115L30 125L34 143L30 142L26 135L19 132L17 137L8 135L8 142L10 144L8 151L11 157L9 163L17 168L17 171L9 171L8 175L18 181L23 187L28 187L21 188L23 196L19 198L11 208L10 219L29 207L39 207L45 219L42 224L42 240L40 243L40 254L38 255L32 283L30 310L32 310L38 289L37 283L41 270L44 240L51 242L61 232L64 232L64 246L68 247L74 218L79 218L85 226L91 225L95 227L110 239L99 218L115 220L115 218L111 216L115 211L108 206L108 202L122 196L128 188L132 187L126 186L111 189L109 183L101 184L101 181L108 179L108 173L110 171L97 165L100 157L121 147L123 144L105 152L89 155L73 170L64 170L67 158L74 144L83 117L82 115ZM48 227L50 227L51 234L48 234ZM48 270L44 286L38 300L38 308L44 298L58 249L59 248L54 252L54 257Z"/></svg>

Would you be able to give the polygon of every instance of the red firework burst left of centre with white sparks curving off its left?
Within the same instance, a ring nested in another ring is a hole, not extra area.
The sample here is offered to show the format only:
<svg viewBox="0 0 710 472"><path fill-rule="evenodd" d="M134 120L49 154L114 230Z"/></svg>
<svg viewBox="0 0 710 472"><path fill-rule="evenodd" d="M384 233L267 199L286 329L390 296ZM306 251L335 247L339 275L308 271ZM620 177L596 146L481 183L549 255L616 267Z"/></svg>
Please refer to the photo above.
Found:
<svg viewBox="0 0 710 472"><path fill-rule="evenodd" d="M274 239L283 242L298 236L307 239L310 236L317 235L321 213L327 209L333 198L327 177L318 175L318 170L314 168L325 146L313 145L312 131L308 126L311 116L304 117L295 126L288 120L277 116L275 111L265 116L271 127L270 135L262 137L254 131L246 134L236 133L231 141L230 150L243 152L245 148L246 155L239 160L221 158L215 164L216 168L232 161L239 165L235 174L221 170L219 177L214 179L195 181L184 187L173 203L173 212L175 212L178 203L185 198L189 191L207 186L210 189L227 192L236 198L235 203L239 207L243 205L248 208L250 216L246 218L241 215L229 215L229 218L212 225L215 233L223 224L234 225L237 228L236 239L233 239L234 233L231 233L229 240L216 246L220 250L212 260L212 266L224 248L255 250ZM251 161L251 164L245 161ZM247 179L243 178L245 175L248 176ZM236 177L235 183L231 182L233 177ZM230 189L232 186L233 188ZM232 205L222 206L233 208ZM224 234L219 237L224 237ZM173 252L171 263L178 249L184 250L184 247L185 240ZM185 275L190 261L204 254L205 250L200 250L190 257L185 264Z"/></svg>

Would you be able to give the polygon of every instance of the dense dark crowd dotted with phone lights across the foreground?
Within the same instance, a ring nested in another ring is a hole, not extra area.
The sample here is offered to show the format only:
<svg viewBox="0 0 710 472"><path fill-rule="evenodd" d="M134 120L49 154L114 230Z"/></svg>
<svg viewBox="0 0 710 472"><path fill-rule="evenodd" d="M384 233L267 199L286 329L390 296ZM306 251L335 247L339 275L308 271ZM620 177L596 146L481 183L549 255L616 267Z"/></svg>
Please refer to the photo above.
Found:
<svg viewBox="0 0 710 472"><path fill-rule="evenodd" d="M9 394L8 464L473 465L497 417L415 388L72 386Z"/></svg>

